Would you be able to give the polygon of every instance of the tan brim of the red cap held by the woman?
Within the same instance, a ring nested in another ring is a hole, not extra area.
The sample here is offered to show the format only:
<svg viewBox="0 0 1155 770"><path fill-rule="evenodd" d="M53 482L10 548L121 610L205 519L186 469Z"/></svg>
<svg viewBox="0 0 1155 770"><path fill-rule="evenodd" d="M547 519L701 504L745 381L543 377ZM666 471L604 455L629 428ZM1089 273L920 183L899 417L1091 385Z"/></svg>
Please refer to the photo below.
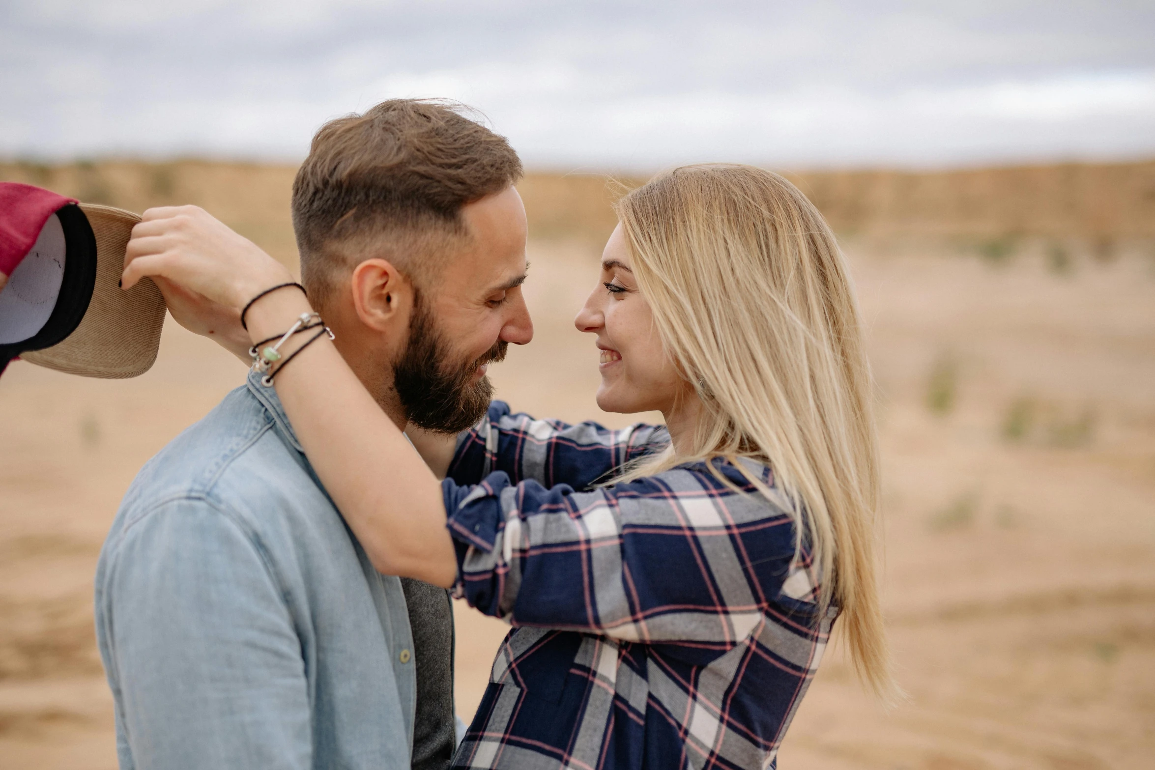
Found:
<svg viewBox="0 0 1155 770"><path fill-rule="evenodd" d="M81 203L96 236L96 284L84 319L52 347L21 359L85 377L120 380L143 374L156 360L164 326L164 297L149 278L120 289L125 249L140 216L109 205Z"/></svg>

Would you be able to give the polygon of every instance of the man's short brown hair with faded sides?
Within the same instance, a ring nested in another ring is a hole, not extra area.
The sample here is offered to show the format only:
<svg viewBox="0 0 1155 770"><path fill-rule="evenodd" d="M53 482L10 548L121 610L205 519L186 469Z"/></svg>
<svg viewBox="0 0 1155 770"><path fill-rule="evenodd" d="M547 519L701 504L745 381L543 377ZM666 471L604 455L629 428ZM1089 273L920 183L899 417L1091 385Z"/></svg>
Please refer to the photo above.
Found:
<svg viewBox="0 0 1155 770"><path fill-rule="evenodd" d="M372 256L422 283L465 234L461 208L521 178L509 142L462 110L389 99L316 132L292 186L301 279L314 304Z"/></svg>

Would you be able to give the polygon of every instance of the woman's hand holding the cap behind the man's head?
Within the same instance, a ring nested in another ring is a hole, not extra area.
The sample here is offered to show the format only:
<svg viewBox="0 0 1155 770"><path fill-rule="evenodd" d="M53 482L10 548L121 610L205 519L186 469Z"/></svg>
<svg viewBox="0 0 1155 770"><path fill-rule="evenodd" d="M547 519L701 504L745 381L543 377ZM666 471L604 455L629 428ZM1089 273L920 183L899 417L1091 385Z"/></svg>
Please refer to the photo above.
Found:
<svg viewBox="0 0 1155 770"><path fill-rule="evenodd" d="M184 290L179 296L172 292L173 305L184 316L178 322L193 331L219 326L225 309L238 313L239 324L239 312L248 300L293 279L253 241L195 205L149 209L133 227L120 285L132 289L144 276ZM158 285L164 291L164 284Z"/></svg>

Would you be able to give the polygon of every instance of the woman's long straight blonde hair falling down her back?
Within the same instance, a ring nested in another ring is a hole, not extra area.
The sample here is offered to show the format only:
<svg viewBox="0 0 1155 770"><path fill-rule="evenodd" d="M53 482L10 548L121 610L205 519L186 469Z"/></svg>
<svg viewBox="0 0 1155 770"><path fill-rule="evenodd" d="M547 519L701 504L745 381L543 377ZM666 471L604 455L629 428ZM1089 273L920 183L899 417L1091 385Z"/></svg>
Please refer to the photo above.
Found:
<svg viewBox="0 0 1155 770"><path fill-rule="evenodd" d="M746 165L675 169L616 208L666 351L705 405L691 451L623 478L691 458L768 462L797 547L811 551L820 607L840 608L859 676L891 700L871 376L834 233L793 185Z"/></svg>

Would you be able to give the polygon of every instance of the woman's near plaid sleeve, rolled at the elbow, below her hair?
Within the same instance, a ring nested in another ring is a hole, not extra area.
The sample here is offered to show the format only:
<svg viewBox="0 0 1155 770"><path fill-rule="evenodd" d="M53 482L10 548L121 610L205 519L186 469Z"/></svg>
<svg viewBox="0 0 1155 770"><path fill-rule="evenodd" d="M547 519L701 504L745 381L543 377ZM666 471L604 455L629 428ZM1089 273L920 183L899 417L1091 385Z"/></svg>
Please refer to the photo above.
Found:
<svg viewBox="0 0 1155 770"><path fill-rule="evenodd" d="M513 625L724 649L795 561L790 516L708 472L575 492L498 471L442 491L456 595Z"/></svg>

